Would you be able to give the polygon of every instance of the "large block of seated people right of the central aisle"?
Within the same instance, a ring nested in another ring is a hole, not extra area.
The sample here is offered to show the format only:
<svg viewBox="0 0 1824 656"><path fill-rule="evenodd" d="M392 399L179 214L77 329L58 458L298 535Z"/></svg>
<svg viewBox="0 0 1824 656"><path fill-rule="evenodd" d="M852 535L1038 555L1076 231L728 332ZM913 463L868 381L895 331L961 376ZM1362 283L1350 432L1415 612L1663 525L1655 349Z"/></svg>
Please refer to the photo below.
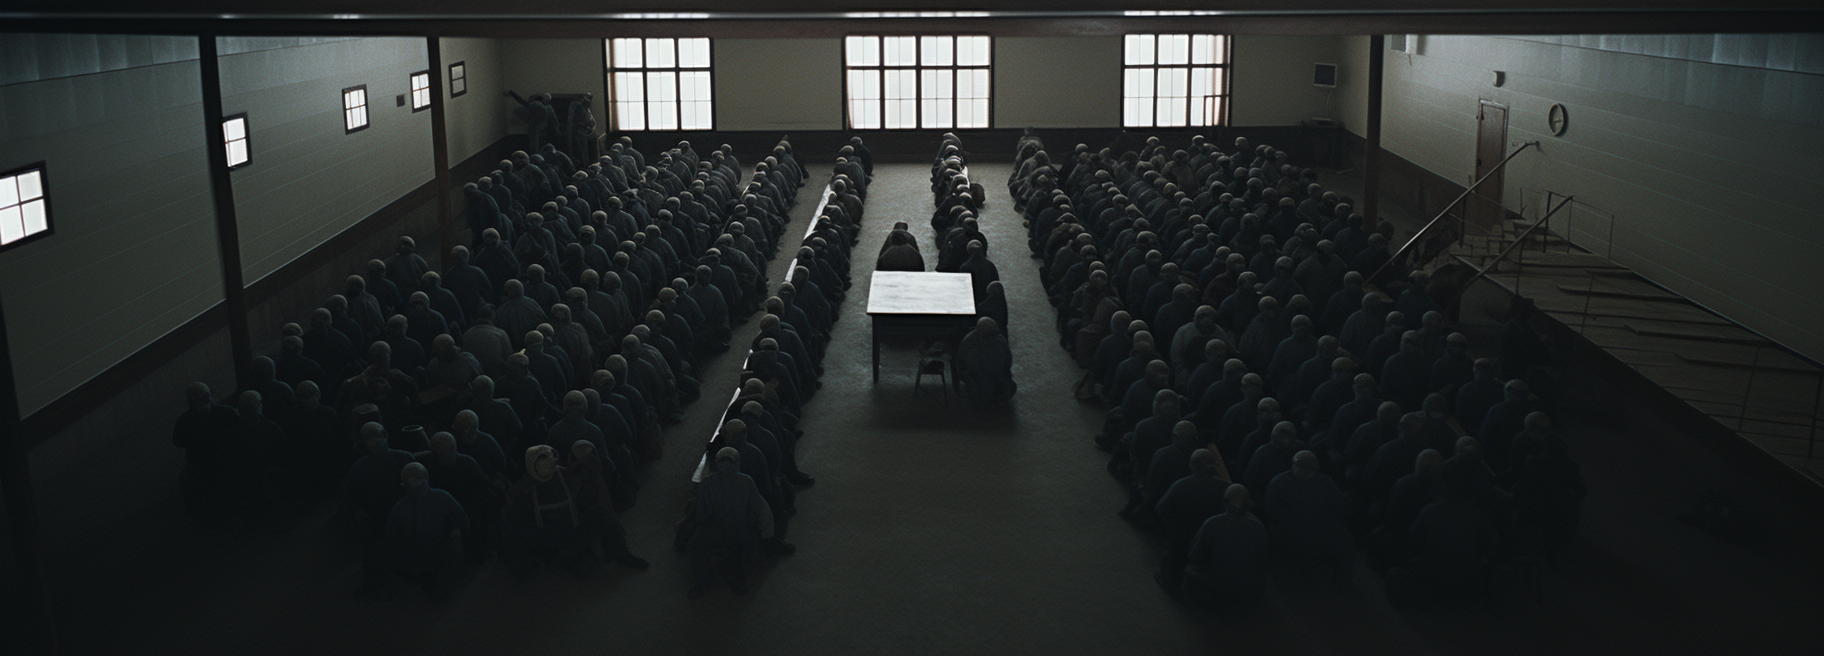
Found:
<svg viewBox="0 0 1824 656"><path fill-rule="evenodd" d="M1530 304L1498 361L1472 357L1386 230L1359 237L1313 171L1235 146L1054 166L1029 135L1009 182L1078 397L1111 405L1096 445L1122 516L1166 541L1160 585L1251 603L1268 554L1346 578L1361 543L1419 598L1476 594L1561 547L1583 485L1523 381L1549 364Z"/></svg>

